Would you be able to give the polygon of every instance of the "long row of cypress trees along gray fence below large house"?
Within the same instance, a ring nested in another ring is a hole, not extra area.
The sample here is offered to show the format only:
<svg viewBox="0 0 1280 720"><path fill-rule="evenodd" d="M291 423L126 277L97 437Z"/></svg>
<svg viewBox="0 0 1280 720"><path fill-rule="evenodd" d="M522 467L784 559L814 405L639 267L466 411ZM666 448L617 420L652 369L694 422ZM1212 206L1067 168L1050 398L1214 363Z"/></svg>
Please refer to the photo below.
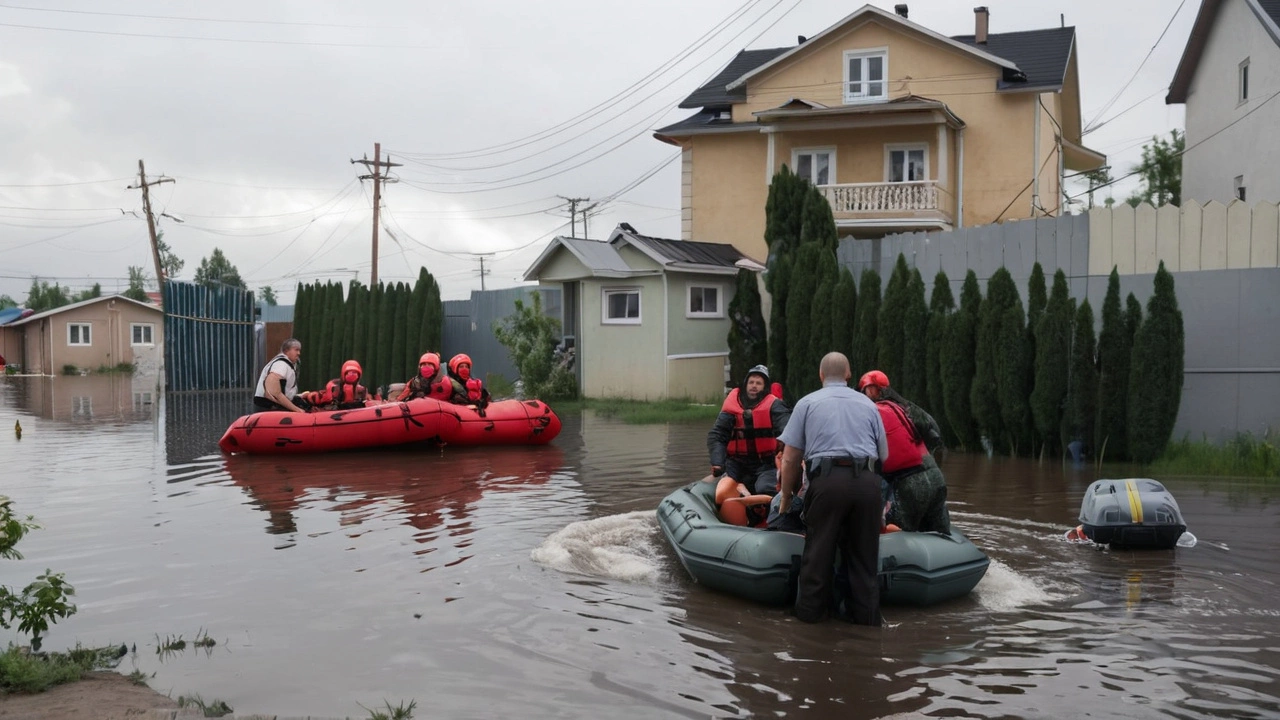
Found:
<svg viewBox="0 0 1280 720"><path fill-rule="evenodd" d="M943 272L925 302L924 278L901 255L883 293L876 270L855 283L836 260L831 205L786 167L773 178L765 213L768 338L755 275L741 270L730 304L733 382L768 357L795 402L817 389L822 355L838 350L854 378L881 369L925 406L952 447L979 450L986 438L1001 454L1052 455L1079 441L1094 456L1151 461L1167 445L1184 338L1162 264L1146 322L1133 293L1121 309L1112 270L1096 336L1088 300L1070 296L1061 270L1048 288L1039 264L1025 306L1005 268L988 279L986 296L970 270L959 306Z"/></svg>

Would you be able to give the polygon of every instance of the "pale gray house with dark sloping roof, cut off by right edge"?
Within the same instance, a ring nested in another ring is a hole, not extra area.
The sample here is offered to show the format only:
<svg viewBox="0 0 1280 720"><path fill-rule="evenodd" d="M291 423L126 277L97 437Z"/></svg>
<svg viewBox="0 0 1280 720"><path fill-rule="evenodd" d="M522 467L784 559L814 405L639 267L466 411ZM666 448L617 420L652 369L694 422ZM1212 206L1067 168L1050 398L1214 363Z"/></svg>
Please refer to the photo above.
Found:
<svg viewBox="0 0 1280 720"><path fill-rule="evenodd" d="M1280 200L1280 0L1203 0L1165 102L1187 105L1183 200Z"/></svg>

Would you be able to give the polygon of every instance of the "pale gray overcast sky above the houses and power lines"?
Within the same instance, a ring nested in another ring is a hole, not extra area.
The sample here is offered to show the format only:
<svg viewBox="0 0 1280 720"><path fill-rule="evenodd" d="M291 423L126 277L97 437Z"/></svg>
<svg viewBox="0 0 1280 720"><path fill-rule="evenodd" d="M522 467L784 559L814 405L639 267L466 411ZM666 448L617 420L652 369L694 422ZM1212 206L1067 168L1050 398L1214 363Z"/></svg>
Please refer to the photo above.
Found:
<svg viewBox="0 0 1280 720"><path fill-rule="evenodd" d="M915 0L910 18L972 33L975 4ZM677 102L739 50L794 45L858 6L0 0L0 295L23 301L32 275L111 292L129 265L151 273L127 190L140 159L175 179L152 197L178 277L220 247L284 304L300 281L369 281L371 187L351 159L374 142L403 163L383 195L384 281L425 265L463 299L486 254L488 287L518 284L568 234L557 196L605 200L591 237L618 222L680 237L677 150L652 131L690 114ZM1164 96L1196 0L988 6L992 32L1057 27L1060 13L1075 26L1084 120L1120 92L1101 119L1119 117L1085 136L1116 174L1183 127Z"/></svg>

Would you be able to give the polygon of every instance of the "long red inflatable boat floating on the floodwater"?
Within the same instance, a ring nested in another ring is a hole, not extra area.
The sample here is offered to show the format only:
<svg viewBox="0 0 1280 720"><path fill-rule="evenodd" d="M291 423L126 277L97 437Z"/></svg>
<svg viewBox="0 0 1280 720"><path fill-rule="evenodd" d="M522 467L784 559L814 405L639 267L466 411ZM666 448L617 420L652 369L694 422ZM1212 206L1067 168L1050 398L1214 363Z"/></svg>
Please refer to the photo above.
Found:
<svg viewBox="0 0 1280 720"><path fill-rule="evenodd" d="M255 413L223 433L223 452L329 452L434 441L444 445L545 445L559 418L540 400L470 405L420 398L355 410Z"/></svg>

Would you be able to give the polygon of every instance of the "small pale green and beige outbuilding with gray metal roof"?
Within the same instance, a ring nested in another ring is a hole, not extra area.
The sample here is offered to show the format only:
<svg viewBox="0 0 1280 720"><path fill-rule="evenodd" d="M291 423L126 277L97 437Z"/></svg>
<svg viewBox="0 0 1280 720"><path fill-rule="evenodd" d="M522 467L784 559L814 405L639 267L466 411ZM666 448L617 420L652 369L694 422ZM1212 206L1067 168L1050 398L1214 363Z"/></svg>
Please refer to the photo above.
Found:
<svg viewBox="0 0 1280 720"><path fill-rule="evenodd" d="M552 240L525 279L561 288L584 396L718 401L740 268L764 269L732 245L649 237L622 223L603 242Z"/></svg>

